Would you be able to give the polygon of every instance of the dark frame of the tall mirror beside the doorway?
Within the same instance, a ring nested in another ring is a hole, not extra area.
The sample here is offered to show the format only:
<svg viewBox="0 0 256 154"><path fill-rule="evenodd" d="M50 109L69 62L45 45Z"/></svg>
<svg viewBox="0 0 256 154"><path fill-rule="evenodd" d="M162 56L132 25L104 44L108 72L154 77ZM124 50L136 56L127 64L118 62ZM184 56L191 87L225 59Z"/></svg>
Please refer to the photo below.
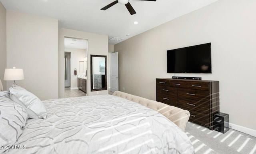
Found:
<svg viewBox="0 0 256 154"><path fill-rule="evenodd" d="M92 58L93 57L103 57L103 58L105 58L105 88L99 88L99 89L93 89L93 70L92 70L92 63L93 63L93 61L92 61ZM108 85L107 85L107 56L103 56L103 55L92 55L91 54L91 92L93 92L93 91L99 91L99 90L108 90Z"/></svg>

